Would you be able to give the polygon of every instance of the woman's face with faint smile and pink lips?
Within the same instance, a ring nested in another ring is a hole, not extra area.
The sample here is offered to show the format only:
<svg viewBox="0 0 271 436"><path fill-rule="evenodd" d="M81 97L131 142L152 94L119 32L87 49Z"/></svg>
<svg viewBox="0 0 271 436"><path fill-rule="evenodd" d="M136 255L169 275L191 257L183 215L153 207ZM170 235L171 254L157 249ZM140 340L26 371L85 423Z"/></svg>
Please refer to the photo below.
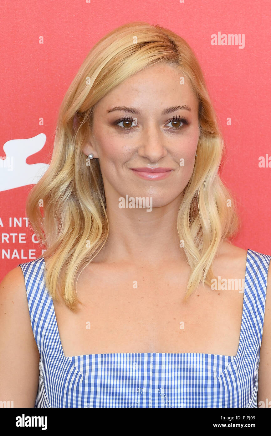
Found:
<svg viewBox="0 0 271 436"><path fill-rule="evenodd" d="M181 196L193 172L199 125L197 99L180 77L177 68L153 65L97 103L83 151L99 159L107 201L149 197L155 208Z"/></svg>

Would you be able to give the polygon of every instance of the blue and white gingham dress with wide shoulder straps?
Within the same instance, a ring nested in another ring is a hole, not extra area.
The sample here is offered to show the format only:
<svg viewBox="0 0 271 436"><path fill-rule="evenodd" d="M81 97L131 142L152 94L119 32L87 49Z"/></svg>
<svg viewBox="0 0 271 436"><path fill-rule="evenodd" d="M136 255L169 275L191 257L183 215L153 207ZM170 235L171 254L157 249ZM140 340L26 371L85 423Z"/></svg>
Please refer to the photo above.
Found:
<svg viewBox="0 0 271 436"><path fill-rule="evenodd" d="M40 351L35 407L257 407L271 256L248 249L236 356L110 353L65 357L43 257L20 263Z"/></svg>

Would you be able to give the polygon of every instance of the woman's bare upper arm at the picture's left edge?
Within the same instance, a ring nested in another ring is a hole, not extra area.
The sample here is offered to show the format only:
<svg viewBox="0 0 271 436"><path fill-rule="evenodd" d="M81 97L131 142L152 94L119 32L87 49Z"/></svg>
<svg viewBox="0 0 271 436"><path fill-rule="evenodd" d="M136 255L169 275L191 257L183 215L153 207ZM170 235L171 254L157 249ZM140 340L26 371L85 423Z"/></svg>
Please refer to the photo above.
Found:
<svg viewBox="0 0 271 436"><path fill-rule="evenodd" d="M20 266L0 283L0 350L0 401L13 401L13 407L34 407L40 354Z"/></svg>

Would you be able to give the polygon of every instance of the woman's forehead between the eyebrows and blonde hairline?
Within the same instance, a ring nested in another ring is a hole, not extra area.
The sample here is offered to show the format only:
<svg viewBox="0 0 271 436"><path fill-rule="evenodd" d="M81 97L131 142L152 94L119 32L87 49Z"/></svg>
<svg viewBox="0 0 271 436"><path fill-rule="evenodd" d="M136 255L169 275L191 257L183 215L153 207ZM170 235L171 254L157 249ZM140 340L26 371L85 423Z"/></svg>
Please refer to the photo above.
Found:
<svg viewBox="0 0 271 436"><path fill-rule="evenodd" d="M184 80L181 78L184 77ZM96 104L97 111L114 106L137 107L153 111L161 108L187 105L197 112L198 101L186 76L177 67L156 64L128 77Z"/></svg>

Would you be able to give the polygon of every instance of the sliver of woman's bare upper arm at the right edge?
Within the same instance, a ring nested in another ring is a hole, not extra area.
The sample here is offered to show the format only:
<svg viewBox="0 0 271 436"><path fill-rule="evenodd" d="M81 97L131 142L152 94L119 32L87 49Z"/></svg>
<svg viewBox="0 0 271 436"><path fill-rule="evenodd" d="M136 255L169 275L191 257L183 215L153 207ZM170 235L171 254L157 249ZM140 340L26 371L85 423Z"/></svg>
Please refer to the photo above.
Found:
<svg viewBox="0 0 271 436"><path fill-rule="evenodd" d="M258 375L258 407L271 407L271 262L267 276L264 328ZM267 402L270 402L268 405L266 405L266 399L268 399ZM264 403L259 404L259 402Z"/></svg>

